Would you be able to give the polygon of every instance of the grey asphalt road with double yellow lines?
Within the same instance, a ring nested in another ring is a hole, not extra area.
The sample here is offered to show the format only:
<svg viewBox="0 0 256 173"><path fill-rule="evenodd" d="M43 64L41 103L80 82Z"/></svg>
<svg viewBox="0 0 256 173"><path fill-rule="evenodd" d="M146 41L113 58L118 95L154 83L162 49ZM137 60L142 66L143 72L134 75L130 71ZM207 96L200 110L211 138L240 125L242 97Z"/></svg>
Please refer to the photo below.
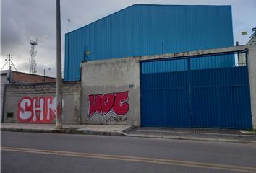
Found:
<svg viewBox="0 0 256 173"><path fill-rule="evenodd" d="M1 172L256 173L256 145L1 132Z"/></svg>

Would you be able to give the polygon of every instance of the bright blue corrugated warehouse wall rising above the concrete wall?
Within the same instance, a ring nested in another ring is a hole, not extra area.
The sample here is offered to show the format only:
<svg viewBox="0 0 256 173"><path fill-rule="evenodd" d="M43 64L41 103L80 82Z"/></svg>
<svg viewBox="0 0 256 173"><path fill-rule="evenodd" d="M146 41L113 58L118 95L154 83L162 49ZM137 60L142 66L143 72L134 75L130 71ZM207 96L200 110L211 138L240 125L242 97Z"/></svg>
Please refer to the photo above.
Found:
<svg viewBox="0 0 256 173"><path fill-rule="evenodd" d="M66 81L80 62L233 45L231 6L134 5L65 35ZM88 57L84 52L90 50ZM234 59L227 62L234 65Z"/></svg>

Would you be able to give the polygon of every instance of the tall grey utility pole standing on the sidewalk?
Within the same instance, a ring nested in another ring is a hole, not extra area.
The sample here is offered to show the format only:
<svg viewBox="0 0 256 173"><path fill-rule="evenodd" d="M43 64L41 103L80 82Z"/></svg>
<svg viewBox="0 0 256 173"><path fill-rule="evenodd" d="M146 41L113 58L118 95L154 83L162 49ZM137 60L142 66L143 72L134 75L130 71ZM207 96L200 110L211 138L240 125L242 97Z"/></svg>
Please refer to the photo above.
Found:
<svg viewBox="0 0 256 173"><path fill-rule="evenodd" d="M61 10L60 0L56 0L56 63L57 63L57 81L56 81L56 95L57 95L57 118L56 128L62 128L62 76L61 76Z"/></svg>

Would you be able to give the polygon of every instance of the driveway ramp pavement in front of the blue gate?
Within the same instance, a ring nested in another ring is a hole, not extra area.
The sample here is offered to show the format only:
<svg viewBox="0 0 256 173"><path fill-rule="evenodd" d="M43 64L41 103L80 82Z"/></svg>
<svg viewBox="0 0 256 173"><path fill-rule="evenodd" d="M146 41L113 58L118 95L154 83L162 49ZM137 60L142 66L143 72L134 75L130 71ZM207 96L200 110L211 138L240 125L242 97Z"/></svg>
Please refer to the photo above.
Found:
<svg viewBox="0 0 256 173"><path fill-rule="evenodd" d="M256 133L247 130L214 128L134 128L127 136L143 138L171 138L199 141L256 143Z"/></svg>

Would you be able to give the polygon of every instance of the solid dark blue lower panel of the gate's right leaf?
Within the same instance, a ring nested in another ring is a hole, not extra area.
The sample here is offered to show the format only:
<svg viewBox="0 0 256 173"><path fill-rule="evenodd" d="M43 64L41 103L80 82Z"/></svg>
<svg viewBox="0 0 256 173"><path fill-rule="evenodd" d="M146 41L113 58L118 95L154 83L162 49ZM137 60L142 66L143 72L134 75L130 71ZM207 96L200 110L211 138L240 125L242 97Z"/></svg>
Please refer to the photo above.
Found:
<svg viewBox="0 0 256 173"><path fill-rule="evenodd" d="M252 128L247 66L190 72L193 127Z"/></svg>

